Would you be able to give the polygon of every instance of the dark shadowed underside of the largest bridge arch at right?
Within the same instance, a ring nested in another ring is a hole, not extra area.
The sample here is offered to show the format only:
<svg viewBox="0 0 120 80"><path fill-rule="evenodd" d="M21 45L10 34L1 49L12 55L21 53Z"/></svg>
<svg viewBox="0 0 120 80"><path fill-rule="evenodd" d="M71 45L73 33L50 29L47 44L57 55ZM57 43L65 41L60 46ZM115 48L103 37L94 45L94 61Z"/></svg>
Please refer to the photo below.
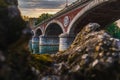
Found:
<svg viewBox="0 0 120 80"><path fill-rule="evenodd" d="M104 29L106 25L120 19L120 1L105 3L86 12L74 23L70 33L77 34L88 23L97 22Z"/></svg>

